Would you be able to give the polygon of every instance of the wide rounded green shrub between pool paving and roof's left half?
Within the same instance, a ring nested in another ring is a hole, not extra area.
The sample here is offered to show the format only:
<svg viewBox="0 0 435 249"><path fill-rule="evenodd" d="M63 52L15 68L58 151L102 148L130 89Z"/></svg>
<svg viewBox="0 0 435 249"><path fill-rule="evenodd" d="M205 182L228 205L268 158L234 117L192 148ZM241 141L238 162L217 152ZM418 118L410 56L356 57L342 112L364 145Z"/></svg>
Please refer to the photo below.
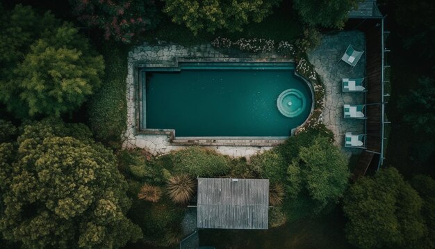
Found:
<svg viewBox="0 0 435 249"><path fill-rule="evenodd" d="M203 147L188 147L172 154L174 172L192 177L216 177L229 172L229 159Z"/></svg>

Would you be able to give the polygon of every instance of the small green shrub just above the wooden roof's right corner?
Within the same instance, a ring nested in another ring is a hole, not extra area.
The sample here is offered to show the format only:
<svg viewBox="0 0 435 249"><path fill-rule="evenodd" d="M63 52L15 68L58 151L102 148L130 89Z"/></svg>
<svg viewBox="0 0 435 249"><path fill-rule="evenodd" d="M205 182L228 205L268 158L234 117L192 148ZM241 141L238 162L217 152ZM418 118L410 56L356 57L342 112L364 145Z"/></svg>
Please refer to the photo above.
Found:
<svg viewBox="0 0 435 249"><path fill-rule="evenodd" d="M270 180L270 184L284 182L286 179L288 163L277 150L268 150L252 156L251 164L260 177Z"/></svg>

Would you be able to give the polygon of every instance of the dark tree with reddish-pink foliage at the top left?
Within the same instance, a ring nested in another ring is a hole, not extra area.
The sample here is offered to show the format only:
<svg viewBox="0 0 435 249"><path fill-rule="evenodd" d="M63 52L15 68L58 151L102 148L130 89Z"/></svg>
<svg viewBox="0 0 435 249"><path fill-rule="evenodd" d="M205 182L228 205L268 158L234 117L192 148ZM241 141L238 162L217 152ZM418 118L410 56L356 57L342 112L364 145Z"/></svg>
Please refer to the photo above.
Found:
<svg viewBox="0 0 435 249"><path fill-rule="evenodd" d="M131 42L138 33L154 29L159 22L153 0L69 0L86 26L104 30L104 38Z"/></svg>

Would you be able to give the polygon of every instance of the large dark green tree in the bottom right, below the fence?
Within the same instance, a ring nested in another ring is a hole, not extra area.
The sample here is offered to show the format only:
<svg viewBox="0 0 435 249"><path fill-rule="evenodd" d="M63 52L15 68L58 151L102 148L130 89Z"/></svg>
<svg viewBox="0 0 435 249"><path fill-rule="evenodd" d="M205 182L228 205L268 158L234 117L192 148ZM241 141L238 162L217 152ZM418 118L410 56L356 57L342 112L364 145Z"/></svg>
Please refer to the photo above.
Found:
<svg viewBox="0 0 435 249"><path fill-rule="evenodd" d="M345 195L347 239L358 248L413 248L427 234L421 209L417 191L395 168L379 170Z"/></svg>

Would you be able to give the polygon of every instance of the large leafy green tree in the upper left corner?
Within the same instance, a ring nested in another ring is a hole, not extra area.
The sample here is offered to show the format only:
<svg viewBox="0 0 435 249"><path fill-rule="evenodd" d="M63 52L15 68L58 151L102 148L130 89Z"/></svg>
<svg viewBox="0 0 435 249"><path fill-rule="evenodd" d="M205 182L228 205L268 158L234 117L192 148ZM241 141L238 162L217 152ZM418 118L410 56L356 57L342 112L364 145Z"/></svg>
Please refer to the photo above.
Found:
<svg viewBox="0 0 435 249"><path fill-rule="evenodd" d="M30 7L0 13L0 101L19 117L77 109L99 88L104 61L71 24ZM9 22L12 20L12 22ZM3 34L3 32L2 32Z"/></svg>

